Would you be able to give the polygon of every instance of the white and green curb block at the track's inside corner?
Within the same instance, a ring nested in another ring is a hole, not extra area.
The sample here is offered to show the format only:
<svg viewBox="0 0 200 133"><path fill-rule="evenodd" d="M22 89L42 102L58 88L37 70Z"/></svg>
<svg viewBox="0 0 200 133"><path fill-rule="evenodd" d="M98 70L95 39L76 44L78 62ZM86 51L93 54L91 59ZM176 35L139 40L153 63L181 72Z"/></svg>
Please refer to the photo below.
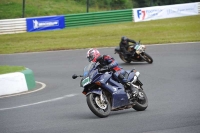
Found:
<svg viewBox="0 0 200 133"><path fill-rule="evenodd" d="M28 68L21 72L0 75L0 96L30 91L35 87L33 71Z"/></svg>

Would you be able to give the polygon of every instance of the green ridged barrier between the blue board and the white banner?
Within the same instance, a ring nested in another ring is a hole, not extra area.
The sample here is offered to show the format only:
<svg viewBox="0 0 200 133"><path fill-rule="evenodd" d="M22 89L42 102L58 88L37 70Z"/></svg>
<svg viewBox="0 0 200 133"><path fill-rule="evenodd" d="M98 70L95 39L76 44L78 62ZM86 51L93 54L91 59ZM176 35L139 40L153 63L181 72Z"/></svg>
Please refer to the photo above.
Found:
<svg viewBox="0 0 200 133"><path fill-rule="evenodd" d="M65 15L65 27L132 21L132 9Z"/></svg>

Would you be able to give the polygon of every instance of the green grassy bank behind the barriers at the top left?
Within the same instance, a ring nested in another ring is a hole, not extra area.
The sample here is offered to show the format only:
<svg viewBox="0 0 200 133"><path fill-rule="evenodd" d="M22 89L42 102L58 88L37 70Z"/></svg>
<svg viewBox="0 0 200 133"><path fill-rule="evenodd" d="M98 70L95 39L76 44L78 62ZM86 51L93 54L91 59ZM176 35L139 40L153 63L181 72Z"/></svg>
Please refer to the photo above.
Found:
<svg viewBox="0 0 200 133"><path fill-rule="evenodd" d="M23 0L0 0L0 19L21 18ZM97 7L89 12L103 11ZM26 0L25 17L85 13L86 3L73 0Z"/></svg>

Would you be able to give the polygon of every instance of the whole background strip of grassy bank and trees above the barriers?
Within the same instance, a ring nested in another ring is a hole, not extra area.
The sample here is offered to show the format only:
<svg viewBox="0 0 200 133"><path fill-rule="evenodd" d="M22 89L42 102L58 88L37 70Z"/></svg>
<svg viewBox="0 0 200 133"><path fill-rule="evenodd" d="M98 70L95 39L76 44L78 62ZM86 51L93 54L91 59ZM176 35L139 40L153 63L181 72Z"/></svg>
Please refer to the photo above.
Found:
<svg viewBox="0 0 200 133"><path fill-rule="evenodd" d="M198 1L199 0L0 0L0 19L101 12ZM89 4L87 4L87 2L89 2Z"/></svg>

